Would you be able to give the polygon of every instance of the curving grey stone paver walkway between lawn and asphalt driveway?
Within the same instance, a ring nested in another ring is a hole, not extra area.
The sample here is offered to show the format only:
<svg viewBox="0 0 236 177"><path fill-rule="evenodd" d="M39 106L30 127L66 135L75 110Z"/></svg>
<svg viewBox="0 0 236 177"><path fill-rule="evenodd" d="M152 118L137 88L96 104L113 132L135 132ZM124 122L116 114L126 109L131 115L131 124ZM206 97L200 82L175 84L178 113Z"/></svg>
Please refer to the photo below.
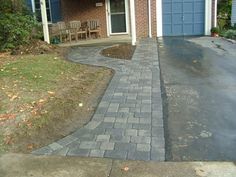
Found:
<svg viewBox="0 0 236 177"><path fill-rule="evenodd" d="M91 121L65 138L33 152L37 155L165 160L157 43L145 39L132 60L111 59L104 47L74 47L69 59L115 70Z"/></svg>

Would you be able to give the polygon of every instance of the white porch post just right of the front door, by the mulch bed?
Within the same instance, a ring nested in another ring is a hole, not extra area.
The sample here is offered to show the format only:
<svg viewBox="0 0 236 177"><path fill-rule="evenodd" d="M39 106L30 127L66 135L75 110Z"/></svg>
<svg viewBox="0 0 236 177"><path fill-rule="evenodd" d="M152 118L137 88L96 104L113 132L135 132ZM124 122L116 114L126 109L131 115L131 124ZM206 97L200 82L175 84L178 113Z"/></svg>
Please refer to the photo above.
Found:
<svg viewBox="0 0 236 177"><path fill-rule="evenodd" d="M131 34L132 34L132 45L136 45L136 18L135 18L135 2L130 0L130 20L131 20Z"/></svg>

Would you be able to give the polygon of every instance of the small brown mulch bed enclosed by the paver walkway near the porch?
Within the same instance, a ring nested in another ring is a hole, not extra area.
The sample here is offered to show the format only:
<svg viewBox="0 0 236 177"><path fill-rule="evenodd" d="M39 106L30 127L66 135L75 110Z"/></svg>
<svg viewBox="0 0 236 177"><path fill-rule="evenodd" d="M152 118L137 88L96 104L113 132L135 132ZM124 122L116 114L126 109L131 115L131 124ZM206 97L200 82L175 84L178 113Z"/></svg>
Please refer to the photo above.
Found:
<svg viewBox="0 0 236 177"><path fill-rule="evenodd" d="M101 55L110 58L131 60L135 51L135 46L131 44L116 44L101 51Z"/></svg>

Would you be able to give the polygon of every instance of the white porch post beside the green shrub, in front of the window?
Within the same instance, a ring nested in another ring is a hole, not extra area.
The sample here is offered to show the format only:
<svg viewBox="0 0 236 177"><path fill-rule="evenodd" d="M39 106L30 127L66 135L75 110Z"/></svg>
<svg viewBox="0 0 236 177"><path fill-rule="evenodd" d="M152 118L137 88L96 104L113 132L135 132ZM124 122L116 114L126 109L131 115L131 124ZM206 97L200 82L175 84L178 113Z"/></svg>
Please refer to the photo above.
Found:
<svg viewBox="0 0 236 177"><path fill-rule="evenodd" d="M41 7L40 9L41 9L41 16L42 16L44 41L49 44L50 39L49 39L48 19L47 19L47 11L46 11L46 2L45 2L45 0L40 0L40 7Z"/></svg>

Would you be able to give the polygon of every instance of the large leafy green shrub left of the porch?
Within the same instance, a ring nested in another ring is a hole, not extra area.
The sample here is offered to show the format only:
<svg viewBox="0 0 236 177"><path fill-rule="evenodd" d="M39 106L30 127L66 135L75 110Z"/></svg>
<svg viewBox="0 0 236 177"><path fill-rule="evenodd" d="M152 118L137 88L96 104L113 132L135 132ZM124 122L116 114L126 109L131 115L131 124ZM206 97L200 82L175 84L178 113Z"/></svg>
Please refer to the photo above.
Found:
<svg viewBox="0 0 236 177"><path fill-rule="evenodd" d="M37 22L23 1L0 0L0 50L29 42Z"/></svg>

